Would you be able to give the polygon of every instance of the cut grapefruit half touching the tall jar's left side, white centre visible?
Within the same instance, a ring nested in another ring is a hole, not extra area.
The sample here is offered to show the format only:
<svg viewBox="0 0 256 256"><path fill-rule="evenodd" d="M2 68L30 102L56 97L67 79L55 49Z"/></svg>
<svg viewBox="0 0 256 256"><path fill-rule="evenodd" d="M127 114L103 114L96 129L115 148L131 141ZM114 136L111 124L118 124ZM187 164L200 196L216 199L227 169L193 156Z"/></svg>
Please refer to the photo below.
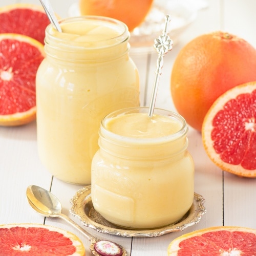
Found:
<svg viewBox="0 0 256 256"><path fill-rule="evenodd" d="M37 40L0 34L0 125L21 125L35 119L35 76L44 57L44 46Z"/></svg>

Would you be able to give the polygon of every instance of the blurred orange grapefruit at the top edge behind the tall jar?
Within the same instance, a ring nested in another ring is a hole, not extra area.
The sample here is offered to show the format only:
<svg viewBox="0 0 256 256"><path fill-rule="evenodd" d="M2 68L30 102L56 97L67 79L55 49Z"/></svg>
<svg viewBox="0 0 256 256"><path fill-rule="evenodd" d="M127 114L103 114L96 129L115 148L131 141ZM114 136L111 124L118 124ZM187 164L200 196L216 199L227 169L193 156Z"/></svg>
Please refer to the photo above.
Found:
<svg viewBox="0 0 256 256"><path fill-rule="evenodd" d="M81 15L121 20L132 31L144 21L152 3L153 0L79 0L79 9Z"/></svg>

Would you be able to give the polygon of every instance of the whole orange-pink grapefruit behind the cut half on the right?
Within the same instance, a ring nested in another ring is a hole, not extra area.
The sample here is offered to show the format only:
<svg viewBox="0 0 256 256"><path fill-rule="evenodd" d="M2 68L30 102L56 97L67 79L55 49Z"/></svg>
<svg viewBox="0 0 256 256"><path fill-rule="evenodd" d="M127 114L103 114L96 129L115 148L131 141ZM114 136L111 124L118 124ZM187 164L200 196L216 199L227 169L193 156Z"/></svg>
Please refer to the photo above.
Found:
<svg viewBox="0 0 256 256"><path fill-rule="evenodd" d="M174 105L201 131L214 101L239 84L256 80L256 50L237 36L214 32L191 40L178 54L170 79Z"/></svg>

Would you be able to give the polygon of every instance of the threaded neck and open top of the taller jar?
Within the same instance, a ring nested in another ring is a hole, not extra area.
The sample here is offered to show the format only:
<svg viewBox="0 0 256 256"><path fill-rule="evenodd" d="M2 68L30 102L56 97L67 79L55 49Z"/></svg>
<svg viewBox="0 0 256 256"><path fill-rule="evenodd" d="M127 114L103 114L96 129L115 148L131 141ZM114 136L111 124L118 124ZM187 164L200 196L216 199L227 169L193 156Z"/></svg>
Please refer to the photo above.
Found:
<svg viewBox="0 0 256 256"><path fill-rule="evenodd" d="M47 56L70 61L104 61L129 51L130 32L119 20L82 16L60 20L62 33L46 28Z"/></svg>

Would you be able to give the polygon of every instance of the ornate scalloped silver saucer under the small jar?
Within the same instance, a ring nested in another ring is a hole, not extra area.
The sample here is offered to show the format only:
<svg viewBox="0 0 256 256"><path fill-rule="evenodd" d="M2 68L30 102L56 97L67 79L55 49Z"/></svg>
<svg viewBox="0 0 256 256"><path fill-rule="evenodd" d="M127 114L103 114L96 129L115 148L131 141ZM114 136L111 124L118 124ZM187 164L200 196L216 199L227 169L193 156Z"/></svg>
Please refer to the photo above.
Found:
<svg viewBox="0 0 256 256"><path fill-rule="evenodd" d="M121 237L159 237L170 232L181 231L198 223L206 213L204 198L195 193L192 206L178 222L156 229L130 230L110 223L94 209L91 200L91 186L79 189L70 202L72 204L70 214L77 217L82 225L101 233L114 234Z"/></svg>

